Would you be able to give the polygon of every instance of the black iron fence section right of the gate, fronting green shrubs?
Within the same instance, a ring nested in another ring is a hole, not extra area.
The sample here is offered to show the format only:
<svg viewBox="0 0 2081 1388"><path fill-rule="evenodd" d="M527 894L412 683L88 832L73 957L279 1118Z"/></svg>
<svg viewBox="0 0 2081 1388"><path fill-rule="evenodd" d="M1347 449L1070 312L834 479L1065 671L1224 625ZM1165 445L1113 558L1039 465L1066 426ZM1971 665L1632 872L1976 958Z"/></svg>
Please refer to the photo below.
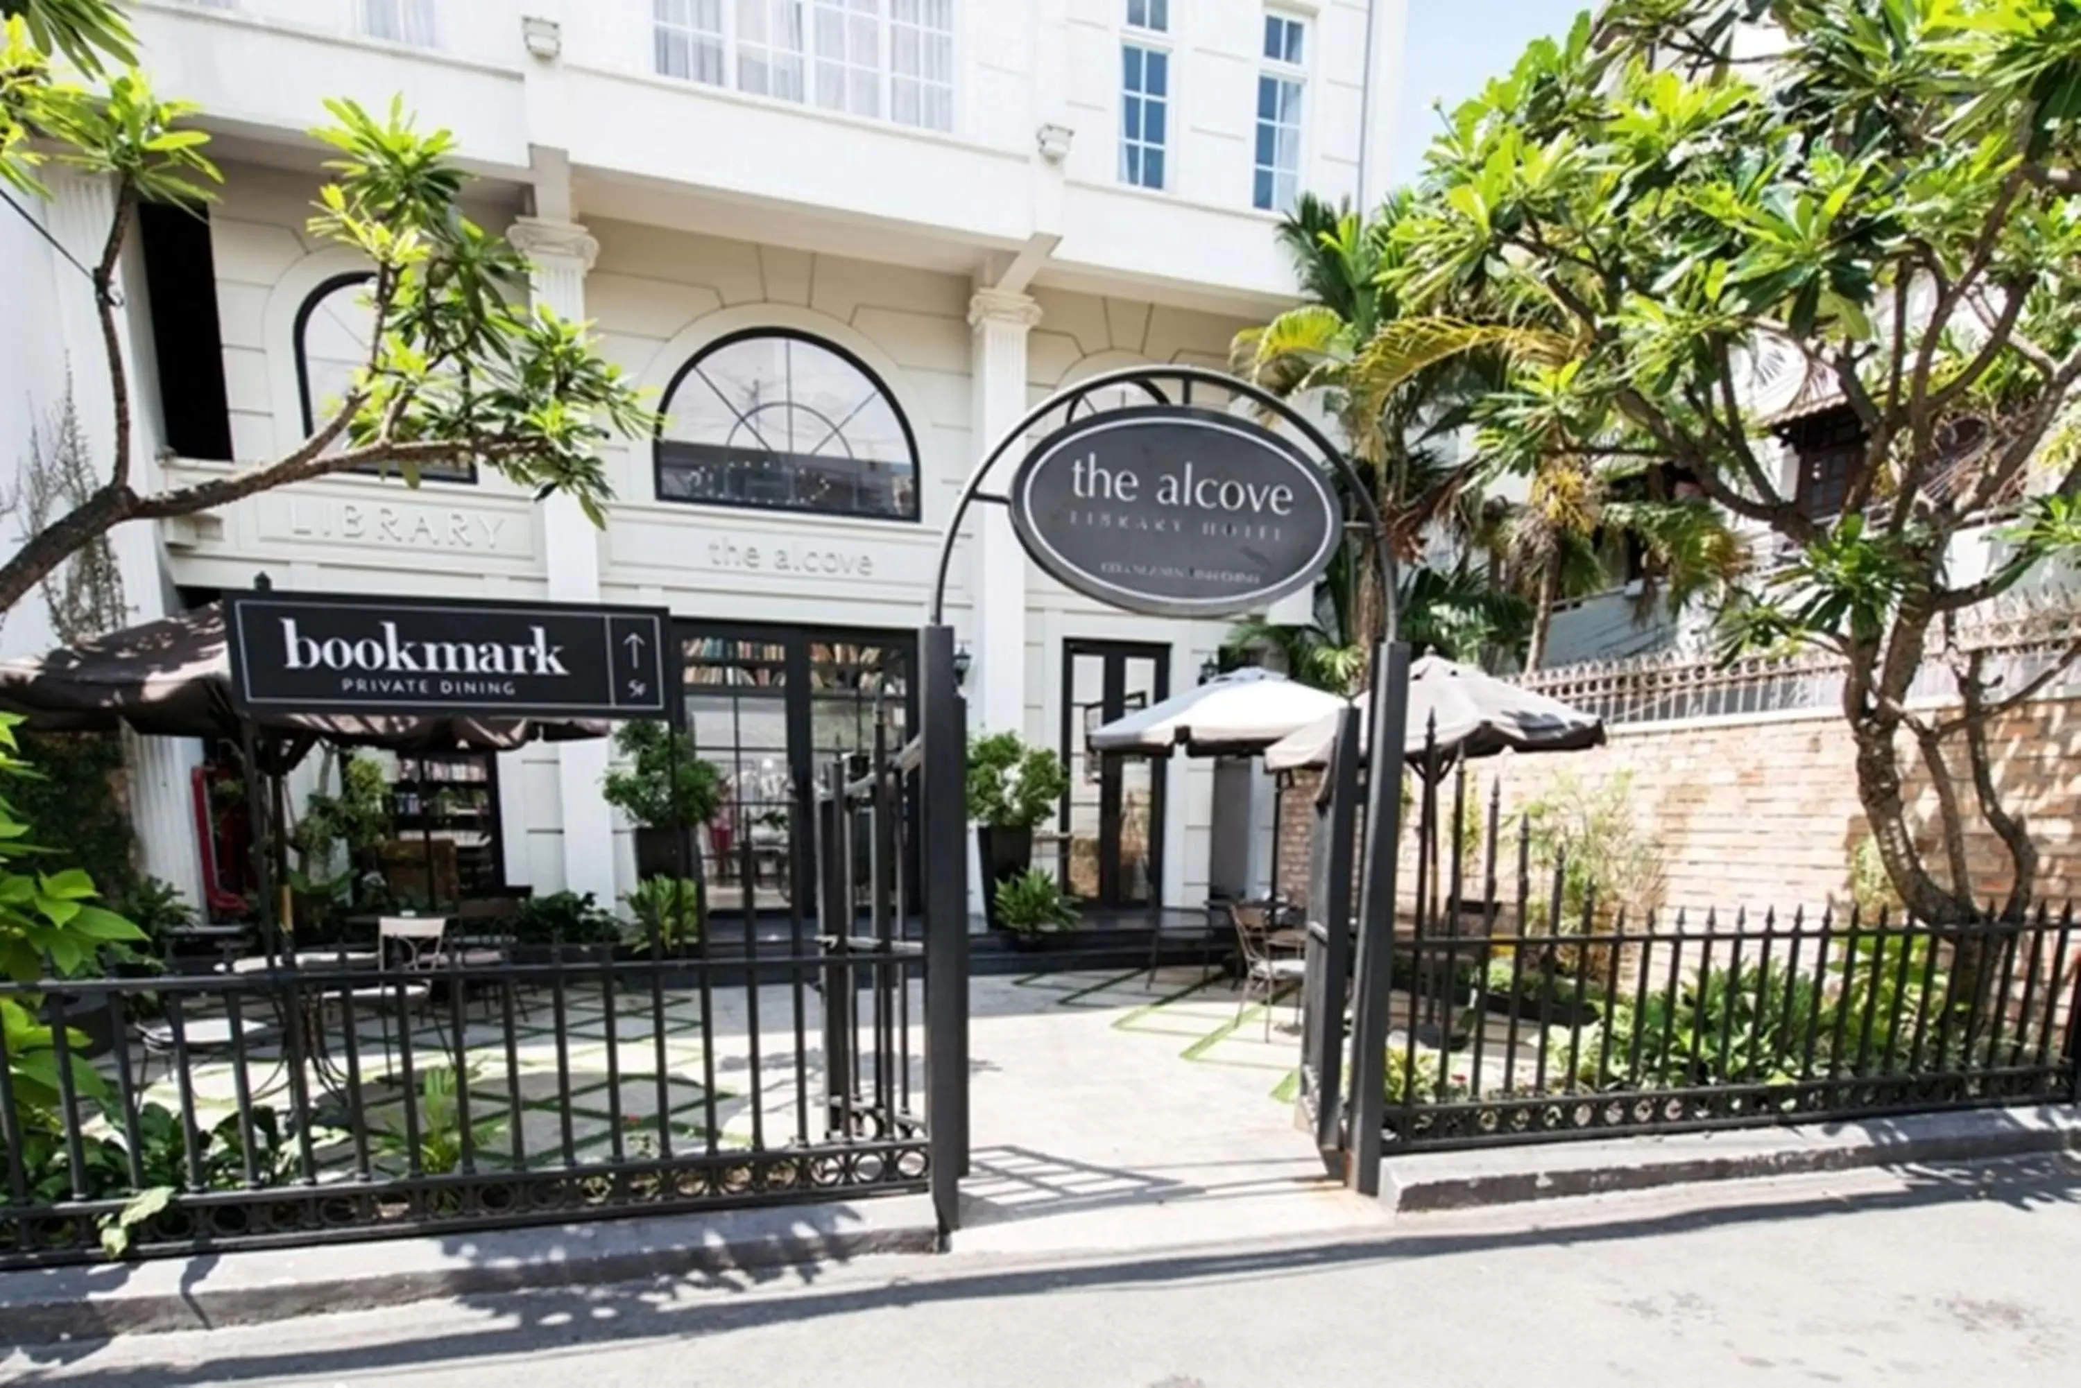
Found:
<svg viewBox="0 0 2081 1388"><path fill-rule="evenodd" d="M2077 1097L2073 909L1931 924L1856 907L1702 918L1598 899L1492 795L1419 778L1392 949L1388 1147L1852 1120ZM1498 841L1515 872L1498 891Z"/></svg>

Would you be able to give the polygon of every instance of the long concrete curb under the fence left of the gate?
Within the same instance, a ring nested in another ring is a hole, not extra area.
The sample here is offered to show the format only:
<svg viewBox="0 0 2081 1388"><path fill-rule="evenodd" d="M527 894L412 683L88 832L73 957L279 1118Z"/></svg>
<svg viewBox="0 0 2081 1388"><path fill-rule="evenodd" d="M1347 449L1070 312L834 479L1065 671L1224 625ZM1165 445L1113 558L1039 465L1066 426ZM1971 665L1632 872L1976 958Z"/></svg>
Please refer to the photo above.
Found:
<svg viewBox="0 0 2081 1388"><path fill-rule="evenodd" d="M10 1271L0 1274L0 1348L936 1246L932 1203L901 1197Z"/></svg>

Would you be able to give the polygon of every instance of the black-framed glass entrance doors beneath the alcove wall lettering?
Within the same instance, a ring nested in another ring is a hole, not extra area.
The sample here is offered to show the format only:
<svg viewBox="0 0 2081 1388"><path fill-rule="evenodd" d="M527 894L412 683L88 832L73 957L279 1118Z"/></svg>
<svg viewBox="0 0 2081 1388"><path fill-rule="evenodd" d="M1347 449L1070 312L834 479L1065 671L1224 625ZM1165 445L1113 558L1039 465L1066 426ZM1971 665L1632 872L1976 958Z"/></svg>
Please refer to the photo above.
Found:
<svg viewBox="0 0 2081 1388"><path fill-rule="evenodd" d="M720 920L816 911L807 845L816 778L839 755L909 737L907 633L680 622L687 726L716 766L710 822L710 914Z"/></svg>

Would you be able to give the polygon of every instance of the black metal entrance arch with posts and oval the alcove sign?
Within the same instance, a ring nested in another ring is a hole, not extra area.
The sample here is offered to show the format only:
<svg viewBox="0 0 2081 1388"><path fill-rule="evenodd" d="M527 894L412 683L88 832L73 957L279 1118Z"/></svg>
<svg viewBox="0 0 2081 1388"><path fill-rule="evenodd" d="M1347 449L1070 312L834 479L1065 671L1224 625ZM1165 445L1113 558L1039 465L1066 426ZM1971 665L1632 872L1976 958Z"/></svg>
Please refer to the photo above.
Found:
<svg viewBox="0 0 2081 1388"><path fill-rule="evenodd" d="M1084 416L1076 414L1078 404L1088 404L1093 395L1113 387L1138 387L1153 404L1124 410L1101 410ZM1170 387L1170 389L1165 389ZM1305 447L1292 439L1271 433L1255 420L1238 420L1226 412L1194 402L1194 391L1226 393L1247 400L1263 418L1286 425L1299 435ZM993 470L1013 454L1030 431L1061 410L1068 416L1063 429L1051 433L1028 454L1005 493L986 493L984 483ZM1167 458L1165 445L1176 435L1165 437L1161 429L1188 422L1197 437L1213 433L1213 420L1222 420L1222 431L1240 439L1232 468L1215 468L1215 477L1184 472L1182 458ZM1095 437L1095 431L1120 427L1124 435L1130 427L1142 429L1134 441L1138 452L1130 452L1134 483L1122 485L1120 466L1080 445ZM1080 466L1082 464L1082 466ZM1149 466L1142 466L1149 464ZM1165 470L1165 464L1176 464ZM1053 472L1051 472L1053 468ZM1282 470L1284 468L1284 470ZM1299 468L1299 470L1296 470ZM1234 612L1236 603L1267 603L1286 591L1296 591L1303 583L1313 583L1321 572L1324 554L1317 554L1311 529L1288 535L1284 529L1253 551L1249 564L1224 566L1217 574L1194 572L1190 564L1153 562L1130 572L1107 572L1103 562L1105 541L1088 535L1078 543L1036 543L1036 529L1063 522L1065 512L1103 504L1111 520L1093 529L1111 529L1120 535L1120 545L1142 543L1147 526L1159 518L1149 514L1149 506L1170 506L1188 512L1194 524L1224 522L1215 516L1192 516L1199 510L1244 510L1255 506L1271 516L1303 514L1303 508L1319 524L1330 518L1332 535L1328 551L1334 554L1342 539L1342 514L1334 506L1324 508L1321 495L1305 493L1307 470L1313 470L1313 487L1332 493L1328 479L1336 479L1342 493L1357 508L1359 529L1371 537L1373 566L1386 610L1386 639L1371 653L1371 755L1367 770L1367 816L1365 816L1365 876L1357 918L1357 984L1355 1018L1351 1036L1351 1099L1317 1122L1324 1157L1338 1176L1353 1188L1376 1194L1380 1188L1382 1149L1382 1099L1386 1084L1386 1034L1388 1034L1388 988L1392 966L1394 930L1394 876L1396 841L1401 820L1401 749L1409 722L1409 645L1398 637L1398 612L1394 603L1394 558L1388 547L1386 524L1365 481L1351 460L1317 429L1307 416L1271 391L1232 377L1222 370L1186 364L1126 366L1078 385L1057 391L1030 408L1011 425L991 449L976 462L953 504L941 531L939 564L932 579L932 597L926 624L920 631L920 701L922 732L914 745L918 757L920 803L920 845L922 845L922 905L926 916L926 1032L928 1032L928 1105L932 1138L932 1203L941 1234L951 1236L959 1226L959 1178L968 1174L968 822L964 809L966 760L968 760L968 710L955 670L955 637L947 624L947 574L953 564L953 545L961 522L974 504L1007 506L1028 554L1055 579L1070 583L1078 591L1109 601L1111 606L1159 612L1174 616L1215 616ZM1068 483L1063 481L1068 472ZM1099 481L1103 474L1103 483ZM1167 487L1165 487L1167 483ZM1226 487L1226 491L1224 491ZM1280 491L1290 487L1290 491ZM1053 512L1047 508L1053 506ZM1053 520L1047 520L1053 516ZM1165 518L1167 520L1167 518ZM1070 526L1078 524L1072 516ZM1090 524L1090 522L1086 522ZM1257 514L1240 516L1234 524L1269 524ZM1040 535L1047 541L1051 537ZM1261 564L1261 572L1253 564ZM1321 560L1321 562L1319 562ZM1184 572L1180 572L1184 570ZM1163 585L1170 585L1167 589ZM1228 585L1226 589L1222 585ZM1109 591L1111 589L1111 591ZM1161 591L1159 591L1161 589ZM1199 601L1194 608L1194 599ZM1346 726L1357 720L1346 718ZM1311 922L1309 951L1317 949ZM1342 930L1344 922L1330 922ZM1342 1007L1336 1009L1340 1026ZM1334 1043L1332 1043L1334 1045ZM1332 1095L1330 1103L1338 1103Z"/></svg>

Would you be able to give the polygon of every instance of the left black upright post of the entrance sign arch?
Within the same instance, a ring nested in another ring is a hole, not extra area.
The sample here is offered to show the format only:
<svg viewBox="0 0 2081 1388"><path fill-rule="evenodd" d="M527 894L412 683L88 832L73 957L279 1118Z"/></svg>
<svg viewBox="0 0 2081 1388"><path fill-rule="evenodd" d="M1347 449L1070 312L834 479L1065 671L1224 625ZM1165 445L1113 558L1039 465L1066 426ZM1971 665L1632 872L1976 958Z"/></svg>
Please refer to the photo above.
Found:
<svg viewBox="0 0 2081 1388"><path fill-rule="evenodd" d="M926 626L918 651L926 1117L932 1211L945 1244L961 1226L968 1174L968 712L953 672L953 628Z"/></svg>

